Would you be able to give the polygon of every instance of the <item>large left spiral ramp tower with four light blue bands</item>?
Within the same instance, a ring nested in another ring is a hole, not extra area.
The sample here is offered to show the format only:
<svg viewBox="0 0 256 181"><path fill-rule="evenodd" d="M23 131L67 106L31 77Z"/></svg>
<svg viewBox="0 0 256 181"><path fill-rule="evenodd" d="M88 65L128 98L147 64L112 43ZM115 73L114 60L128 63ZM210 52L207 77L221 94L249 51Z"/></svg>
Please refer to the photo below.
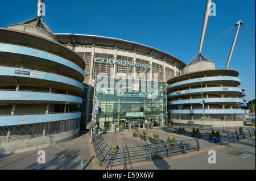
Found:
<svg viewBox="0 0 256 181"><path fill-rule="evenodd" d="M84 69L40 17L0 28L0 152L74 137Z"/></svg>

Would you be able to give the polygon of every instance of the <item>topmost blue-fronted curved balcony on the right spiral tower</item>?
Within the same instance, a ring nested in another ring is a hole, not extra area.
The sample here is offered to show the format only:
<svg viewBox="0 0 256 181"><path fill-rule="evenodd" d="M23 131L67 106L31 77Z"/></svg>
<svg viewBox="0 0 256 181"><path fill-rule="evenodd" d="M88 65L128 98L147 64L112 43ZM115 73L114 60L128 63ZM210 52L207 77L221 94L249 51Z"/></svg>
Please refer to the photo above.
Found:
<svg viewBox="0 0 256 181"><path fill-rule="evenodd" d="M173 89L188 87L188 86L200 86L200 80L202 83L207 83L207 85L212 86L231 86L237 87L240 85L240 78L238 77L231 77L231 76L216 76L216 77L202 77L202 78L194 78L188 79L185 81L180 81L176 83L172 83L171 85L167 86L167 90L171 91Z"/></svg>

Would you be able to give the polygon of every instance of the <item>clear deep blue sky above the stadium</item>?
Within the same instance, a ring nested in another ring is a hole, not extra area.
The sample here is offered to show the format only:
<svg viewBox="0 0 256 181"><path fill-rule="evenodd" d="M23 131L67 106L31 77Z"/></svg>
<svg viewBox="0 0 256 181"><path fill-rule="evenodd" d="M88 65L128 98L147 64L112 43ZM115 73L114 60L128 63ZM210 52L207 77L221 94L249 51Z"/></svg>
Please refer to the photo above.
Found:
<svg viewBox="0 0 256 181"><path fill-rule="evenodd" d="M206 0L44 2L46 16L43 19L55 33L84 33L135 41L168 52L185 63L199 48L206 4ZM217 14L209 17L204 45L222 36L203 46L202 54L212 60L216 68L225 68L236 28L229 33L225 31L242 19L255 35L255 0L213 2ZM37 0L1 1L0 27L36 17L36 6ZM255 46L255 39L253 41ZM255 99L255 47L251 47L242 27L229 68L240 72L240 87L245 89L246 99Z"/></svg>

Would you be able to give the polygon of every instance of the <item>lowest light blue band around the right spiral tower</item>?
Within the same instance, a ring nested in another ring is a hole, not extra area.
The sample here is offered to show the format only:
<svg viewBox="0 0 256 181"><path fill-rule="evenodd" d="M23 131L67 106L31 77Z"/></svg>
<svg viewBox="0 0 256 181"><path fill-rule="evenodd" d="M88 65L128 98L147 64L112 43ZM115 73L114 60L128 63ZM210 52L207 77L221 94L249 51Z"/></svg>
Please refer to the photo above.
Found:
<svg viewBox="0 0 256 181"><path fill-rule="evenodd" d="M188 114L201 114L202 110L168 110L169 113L188 113ZM229 114L229 113L245 113L245 110L241 109L209 109L204 110L206 114Z"/></svg>

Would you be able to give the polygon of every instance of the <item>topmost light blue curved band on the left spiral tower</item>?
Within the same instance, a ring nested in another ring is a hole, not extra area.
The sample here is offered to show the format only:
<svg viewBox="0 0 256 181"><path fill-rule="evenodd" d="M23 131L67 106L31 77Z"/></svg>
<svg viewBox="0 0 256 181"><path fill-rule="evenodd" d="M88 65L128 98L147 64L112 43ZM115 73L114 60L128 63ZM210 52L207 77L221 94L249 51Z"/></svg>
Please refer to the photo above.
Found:
<svg viewBox="0 0 256 181"><path fill-rule="evenodd" d="M71 62L65 58L56 56L55 54L52 54L52 53L44 52L42 50L28 48L28 47L22 47L19 45L0 43L0 52L17 53L17 54L24 54L24 55L32 56L32 57L43 58L43 59L46 59L49 61L56 62L58 64L68 66L69 68L78 71L80 74L82 74L82 76L84 76L84 70L82 70L80 68L80 66L74 64L73 62Z"/></svg>

